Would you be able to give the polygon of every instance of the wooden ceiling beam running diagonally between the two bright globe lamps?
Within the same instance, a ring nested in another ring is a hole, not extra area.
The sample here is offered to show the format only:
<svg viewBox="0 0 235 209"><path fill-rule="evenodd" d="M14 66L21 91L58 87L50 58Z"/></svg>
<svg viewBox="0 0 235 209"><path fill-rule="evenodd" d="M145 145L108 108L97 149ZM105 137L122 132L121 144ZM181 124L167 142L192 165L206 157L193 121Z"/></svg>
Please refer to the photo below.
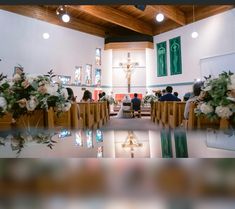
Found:
<svg viewBox="0 0 235 209"><path fill-rule="evenodd" d="M90 14L94 18L100 18L107 22L128 28L138 33L151 36L153 35L152 27L149 26L146 22L140 21L125 12L111 8L109 6L73 5L71 7Z"/></svg>

